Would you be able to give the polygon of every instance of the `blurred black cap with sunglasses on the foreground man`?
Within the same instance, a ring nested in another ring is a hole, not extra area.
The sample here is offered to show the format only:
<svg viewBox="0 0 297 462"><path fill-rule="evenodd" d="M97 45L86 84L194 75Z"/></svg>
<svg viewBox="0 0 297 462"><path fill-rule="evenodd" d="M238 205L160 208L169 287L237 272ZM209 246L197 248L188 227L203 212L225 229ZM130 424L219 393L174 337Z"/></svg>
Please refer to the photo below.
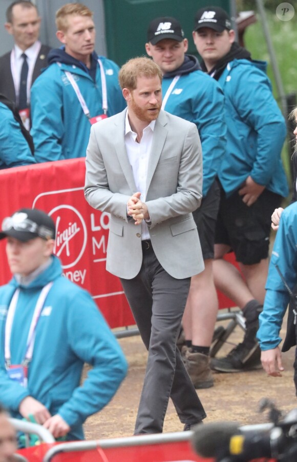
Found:
<svg viewBox="0 0 297 462"><path fill-rule="evenodd" d="M4 218L0 239L7 236L27 242L34 237L54 239L56 234L52 218L39 209L20 209L11 216Z"/></svg>

